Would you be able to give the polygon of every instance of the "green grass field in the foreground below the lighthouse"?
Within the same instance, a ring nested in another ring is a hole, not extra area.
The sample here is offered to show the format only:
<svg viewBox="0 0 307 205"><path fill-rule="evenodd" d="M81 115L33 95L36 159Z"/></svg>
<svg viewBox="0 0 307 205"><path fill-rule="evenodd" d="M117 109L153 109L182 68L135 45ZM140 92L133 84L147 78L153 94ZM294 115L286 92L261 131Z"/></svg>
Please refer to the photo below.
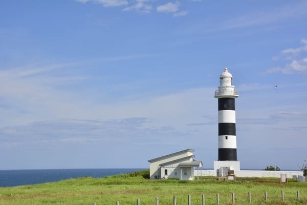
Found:
<svg viewBox="0 0 307 205"><path fill-rule="evenodd" d="M148 171L121 174L104 178L83 177L40 185L0 188L0 204L136 204L141 205L173 204L173 196L177 204L216 204L216 194L220 195L220 204L232 204L231 194L235 193L235 204L307 204L307 184L290 180L279 184L278 178L237 178L236 181L217 181L202 178L199 181L149 180ZM264 200L264 192L268 193L268 202ZM281 201L281 191L284 201ZM300 199L296 192L299 191ZM252 202L248 203L248 192Z"/></svg>

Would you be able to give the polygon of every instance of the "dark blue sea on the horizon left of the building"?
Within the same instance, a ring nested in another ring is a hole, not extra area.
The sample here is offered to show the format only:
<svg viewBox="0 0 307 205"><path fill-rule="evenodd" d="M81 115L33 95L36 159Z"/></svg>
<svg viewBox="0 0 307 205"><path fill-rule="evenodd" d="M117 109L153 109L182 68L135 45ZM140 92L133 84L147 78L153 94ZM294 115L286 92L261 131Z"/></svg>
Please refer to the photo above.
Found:
<svg viewBox="0 0 307 205"><path fill-rule="evenodd" d="M85 176L99 178L138 170L142 169L0 170L0 187L34 185Z"/></svg>

